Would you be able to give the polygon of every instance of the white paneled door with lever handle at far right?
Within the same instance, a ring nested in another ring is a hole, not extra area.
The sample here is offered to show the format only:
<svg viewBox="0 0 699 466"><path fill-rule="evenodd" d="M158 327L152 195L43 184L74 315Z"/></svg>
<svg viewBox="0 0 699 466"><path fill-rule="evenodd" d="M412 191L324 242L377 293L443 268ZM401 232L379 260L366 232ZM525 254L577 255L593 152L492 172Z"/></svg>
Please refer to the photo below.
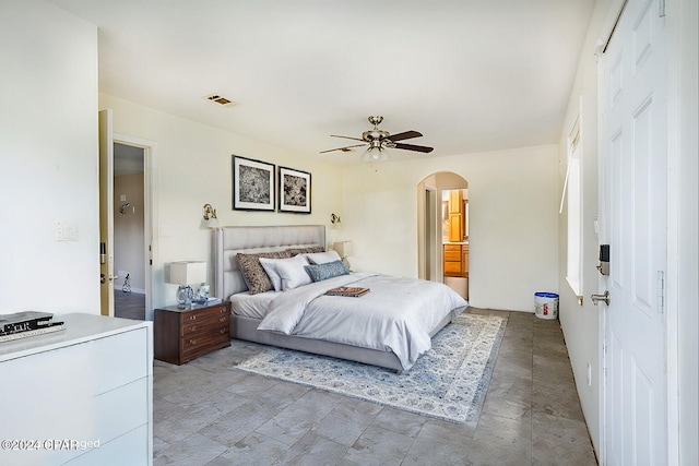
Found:
<svg viewBox="0 0 699 466"><path fill-rule="evenodd" d="M611 253L611 274L601 280L609 291L603 458L609 465L667 462L667 79L657 1L628 1L602 60L601 242Z"/></svg>

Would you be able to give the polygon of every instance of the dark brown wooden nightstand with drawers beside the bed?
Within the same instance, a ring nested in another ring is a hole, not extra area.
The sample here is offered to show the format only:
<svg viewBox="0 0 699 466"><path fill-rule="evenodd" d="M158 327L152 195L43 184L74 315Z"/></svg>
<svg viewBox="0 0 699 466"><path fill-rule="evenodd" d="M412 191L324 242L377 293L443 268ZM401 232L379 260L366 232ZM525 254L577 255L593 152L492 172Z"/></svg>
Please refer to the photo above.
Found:
<svg viewBox="0 0 699 466"><path fill-rule="evenodd" d="M155 359L178 366L230 346L230 302L156 309L153 334Z"/></svg>

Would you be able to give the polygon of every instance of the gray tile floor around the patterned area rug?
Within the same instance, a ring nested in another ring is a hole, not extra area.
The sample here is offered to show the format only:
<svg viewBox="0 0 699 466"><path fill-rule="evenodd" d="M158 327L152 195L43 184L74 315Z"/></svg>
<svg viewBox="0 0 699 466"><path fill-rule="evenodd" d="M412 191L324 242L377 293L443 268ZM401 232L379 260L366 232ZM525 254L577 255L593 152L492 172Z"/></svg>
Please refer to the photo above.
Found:
<svg viewBox="0 0 699 466"><path fill-rule="evenodd" d="M508 318L474 425L247 373L236 369L246 354L222 350L180 367L155 361L154 463L595 465L558 321L470 312Z"/></svg>

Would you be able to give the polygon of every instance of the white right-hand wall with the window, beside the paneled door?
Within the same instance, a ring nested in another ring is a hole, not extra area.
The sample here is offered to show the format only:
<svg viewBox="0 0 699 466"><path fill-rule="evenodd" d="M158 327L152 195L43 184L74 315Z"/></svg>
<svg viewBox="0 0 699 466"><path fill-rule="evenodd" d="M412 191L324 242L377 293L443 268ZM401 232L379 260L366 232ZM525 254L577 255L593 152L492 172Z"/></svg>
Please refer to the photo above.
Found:
<svg viewBox="0 0 699 466"><path fill-rule="evenodd" d="M557 239L559 248L559 319L568 346L568 356L572 366L580 404L582 406L588 429L595 450L600 447L600 394L601 361L599 336L600 310L593 306L590 295L597 292L599 241L594 234L594 219L597 208L597 64L595 57L596 40L602 25L607 19L612 0L601 0L593 12L588 35L585 37L578 72L566 118L561 126L559 152L559 186L562 190L566 177L567 138L570 134L578 115L581 117L581 178L582 178L582 296L583 306L578 303L578 296L566 280L567 251L567 204L558 218L560 235ZM588 365L592 371L592 384L588 385Z"/></svg>

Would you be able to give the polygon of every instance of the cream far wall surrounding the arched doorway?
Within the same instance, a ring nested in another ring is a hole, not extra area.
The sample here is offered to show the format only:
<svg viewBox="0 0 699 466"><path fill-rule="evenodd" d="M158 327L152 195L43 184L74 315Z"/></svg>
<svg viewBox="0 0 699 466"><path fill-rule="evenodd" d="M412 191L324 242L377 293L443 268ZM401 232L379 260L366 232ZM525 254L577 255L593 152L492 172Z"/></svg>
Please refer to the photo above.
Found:
<svg viewBox="0 0 699 466"><path fill-rule="evenodd" d="M469 181L474 307L534 311L558 289L557 146L363 164L343 170L342 239L357 271L417 276L417 187L437 171Z"/></svg>

